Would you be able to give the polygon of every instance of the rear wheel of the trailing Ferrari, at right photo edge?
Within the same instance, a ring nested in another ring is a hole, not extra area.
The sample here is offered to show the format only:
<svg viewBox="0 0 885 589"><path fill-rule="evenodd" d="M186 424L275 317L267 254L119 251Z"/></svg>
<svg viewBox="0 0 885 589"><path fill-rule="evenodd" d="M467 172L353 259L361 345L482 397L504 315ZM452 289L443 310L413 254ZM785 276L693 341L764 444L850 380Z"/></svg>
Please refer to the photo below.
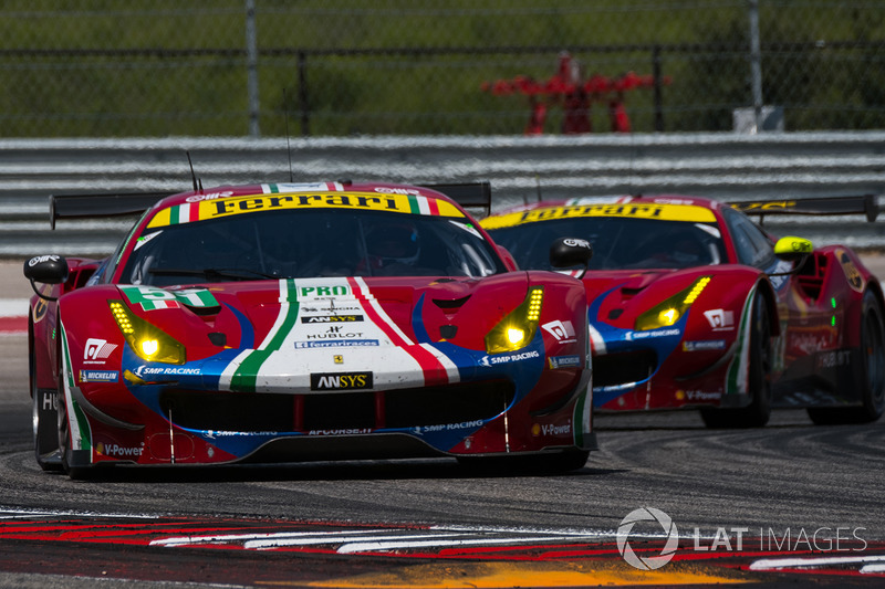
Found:
<svg viewBox="0 0 885 589"><path fill-rule="evenodd" d="M860 365L854 372L861 391L860 407L814 407L809 417L819 425L834 423L870 423L885 412L885 327L883 309L875 295L864 293L861 311Z"/></svg>

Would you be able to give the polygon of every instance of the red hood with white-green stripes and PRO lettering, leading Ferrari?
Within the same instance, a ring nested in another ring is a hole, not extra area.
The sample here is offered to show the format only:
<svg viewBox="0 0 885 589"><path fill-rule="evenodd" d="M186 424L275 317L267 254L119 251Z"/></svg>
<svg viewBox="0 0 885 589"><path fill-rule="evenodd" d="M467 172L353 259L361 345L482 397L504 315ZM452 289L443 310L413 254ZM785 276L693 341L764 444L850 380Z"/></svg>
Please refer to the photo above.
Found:
<svg viewBox="0 0 885 589"><path fill-rule="evenodd" d="M186 344L214 348L404 346L447 340L482 349L525 297L527 273L486 278L329 277L188 287L118 285L140 317Z"/></svg>

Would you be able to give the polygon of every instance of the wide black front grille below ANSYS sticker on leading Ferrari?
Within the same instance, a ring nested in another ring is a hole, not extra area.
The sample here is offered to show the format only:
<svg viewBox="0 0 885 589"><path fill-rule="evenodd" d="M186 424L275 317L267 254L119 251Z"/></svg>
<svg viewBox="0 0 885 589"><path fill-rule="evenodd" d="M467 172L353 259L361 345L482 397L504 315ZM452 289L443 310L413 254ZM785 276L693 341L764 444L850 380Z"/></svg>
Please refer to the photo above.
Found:
<svg viewBox="0 0 885 589"><path fill-rule="evenodd" d="M360 430L486 420L502 412L514 392L507 380L310 395L169 389L160 407L174 423L194 430Z"/></svg>

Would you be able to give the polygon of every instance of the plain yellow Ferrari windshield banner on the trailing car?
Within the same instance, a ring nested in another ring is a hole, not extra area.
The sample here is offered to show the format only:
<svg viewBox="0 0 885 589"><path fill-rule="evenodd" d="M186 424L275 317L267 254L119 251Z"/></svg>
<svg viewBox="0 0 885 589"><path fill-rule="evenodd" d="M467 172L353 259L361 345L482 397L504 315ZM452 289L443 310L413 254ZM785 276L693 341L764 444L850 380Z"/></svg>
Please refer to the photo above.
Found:
<svg viewBox="0 0 885 589"><path fill-rule="evenodd" d="M716 215L710 209L690 204L658 204L655 202L627 202L615 204L572 204L518 211L500 217L487 217L480 224L487 230L517 227L538 221L572 219L576 217L626 217L659 221L688 221L711 223Z"/></svg>

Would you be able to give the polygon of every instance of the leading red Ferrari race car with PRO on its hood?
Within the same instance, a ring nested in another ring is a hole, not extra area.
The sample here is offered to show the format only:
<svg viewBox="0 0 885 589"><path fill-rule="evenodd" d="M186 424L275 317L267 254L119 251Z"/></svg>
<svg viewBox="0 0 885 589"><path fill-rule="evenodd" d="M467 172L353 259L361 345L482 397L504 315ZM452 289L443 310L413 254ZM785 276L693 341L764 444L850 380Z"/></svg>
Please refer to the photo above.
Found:
<svg viewBox="0 0 885 589"><path fill-rule="evenodd" d="M147 210L105 260L24 264L43 469L442 455L562 471L595 448L583 284L516 271L440 191L157 198L56 197L53 222Z"/></svg>

